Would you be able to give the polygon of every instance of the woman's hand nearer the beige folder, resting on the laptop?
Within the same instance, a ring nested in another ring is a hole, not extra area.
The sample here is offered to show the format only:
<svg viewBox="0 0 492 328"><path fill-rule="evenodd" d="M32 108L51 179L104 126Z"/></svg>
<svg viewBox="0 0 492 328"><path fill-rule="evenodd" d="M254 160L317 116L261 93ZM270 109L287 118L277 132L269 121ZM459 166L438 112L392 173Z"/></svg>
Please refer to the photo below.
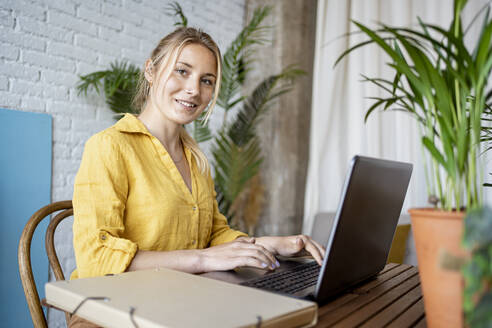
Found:
<svg viewBox="0 0 492 328"><path fill-rule="evenodd" d="M265 247L255 244L254 237L241 237L222 245L205 248L200 256L201 271L226 271L238 267L274 270L279 266L275 256Z"/></svg>

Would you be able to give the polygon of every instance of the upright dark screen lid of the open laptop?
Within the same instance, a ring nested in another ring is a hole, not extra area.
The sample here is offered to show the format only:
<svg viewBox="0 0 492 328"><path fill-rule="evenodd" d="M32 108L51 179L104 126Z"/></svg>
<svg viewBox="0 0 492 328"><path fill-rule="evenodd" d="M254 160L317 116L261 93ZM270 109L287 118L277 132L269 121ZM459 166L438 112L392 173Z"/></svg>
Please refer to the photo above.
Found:
<svg viewBox="0 0 492 328"><path fill-rule="evenodd" d="M326 245L318 301L383 269L411 173L409 163L353 158Z"/></svg>

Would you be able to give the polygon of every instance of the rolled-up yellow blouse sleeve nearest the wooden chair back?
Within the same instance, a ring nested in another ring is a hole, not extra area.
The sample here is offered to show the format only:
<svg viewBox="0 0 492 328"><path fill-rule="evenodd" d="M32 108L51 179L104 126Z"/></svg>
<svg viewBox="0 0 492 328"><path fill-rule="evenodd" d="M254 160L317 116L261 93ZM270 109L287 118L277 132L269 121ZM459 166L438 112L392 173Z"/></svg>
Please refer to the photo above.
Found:
<svg viewBox="0 0 492 328"><path fill-rule="evenodd" d="M111 136L90 138L75 178L73 244L77 270L72 278L121 273L137 244L121 238L128 175L119 145Z"/></svg>

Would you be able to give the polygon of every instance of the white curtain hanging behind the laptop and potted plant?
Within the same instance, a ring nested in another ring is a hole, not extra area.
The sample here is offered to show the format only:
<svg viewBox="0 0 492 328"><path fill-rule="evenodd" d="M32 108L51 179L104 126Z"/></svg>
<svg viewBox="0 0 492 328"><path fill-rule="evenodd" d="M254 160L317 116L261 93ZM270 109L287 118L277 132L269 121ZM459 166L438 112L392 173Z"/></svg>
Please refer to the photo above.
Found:
<svg viewBox="0 0 492 328"><path fill-rule="evenodd" d="M470 0L465 13L472 18L485 3L490 0ZM377 22L415 27L420 17L448 27L452 10L452 0L318 0L304 233L311 232L316 213L336 210L348 164L356 154L414 163L403 213L410 207L427 206L420 134L414 119L401 112L374 112L364 123L373 103L367 97L382 94L362 83L361 74L391 79L392 72L385 65L388 57L370 45L333 65L350 45L367 39L362 34L345 36L356 30L350 20L370 27Z"/></svg>

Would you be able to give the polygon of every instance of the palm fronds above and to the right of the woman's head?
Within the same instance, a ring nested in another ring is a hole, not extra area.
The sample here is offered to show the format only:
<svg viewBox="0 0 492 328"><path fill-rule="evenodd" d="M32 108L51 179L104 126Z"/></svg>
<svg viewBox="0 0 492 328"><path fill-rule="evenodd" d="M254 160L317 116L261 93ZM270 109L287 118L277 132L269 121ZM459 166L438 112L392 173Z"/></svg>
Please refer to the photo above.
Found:
<svg viewBox="0 0 492 328"><path fill-rule="evenodd" d="M260 214L260 206L248 206L247 202L258 202L263 191L258 183L263 156L256 126L271 107L272 101L291 90L295 79L304 74L302 70L288 66L261 81L251 95L241 95L246 74L254 61L254 46L266 41L264 35L270 27L262 25L262 22L270 11L270 7L257 8L223 55L217 105L224 109L224 117L212 142L212 164L219 209L229 217L233 226L238 227L242 223L250 233ZM176 26L187 26L188 19L177 2L170 4L169 13L179 19ZM229 114L236 108L239 108L237 115L229 120ZM194 121L190 130L197 142L212 138L207 122L203 120ZM243 207L256 213L244 213L241 210ZM245 217L250 219L245 220Z"/></svg>

